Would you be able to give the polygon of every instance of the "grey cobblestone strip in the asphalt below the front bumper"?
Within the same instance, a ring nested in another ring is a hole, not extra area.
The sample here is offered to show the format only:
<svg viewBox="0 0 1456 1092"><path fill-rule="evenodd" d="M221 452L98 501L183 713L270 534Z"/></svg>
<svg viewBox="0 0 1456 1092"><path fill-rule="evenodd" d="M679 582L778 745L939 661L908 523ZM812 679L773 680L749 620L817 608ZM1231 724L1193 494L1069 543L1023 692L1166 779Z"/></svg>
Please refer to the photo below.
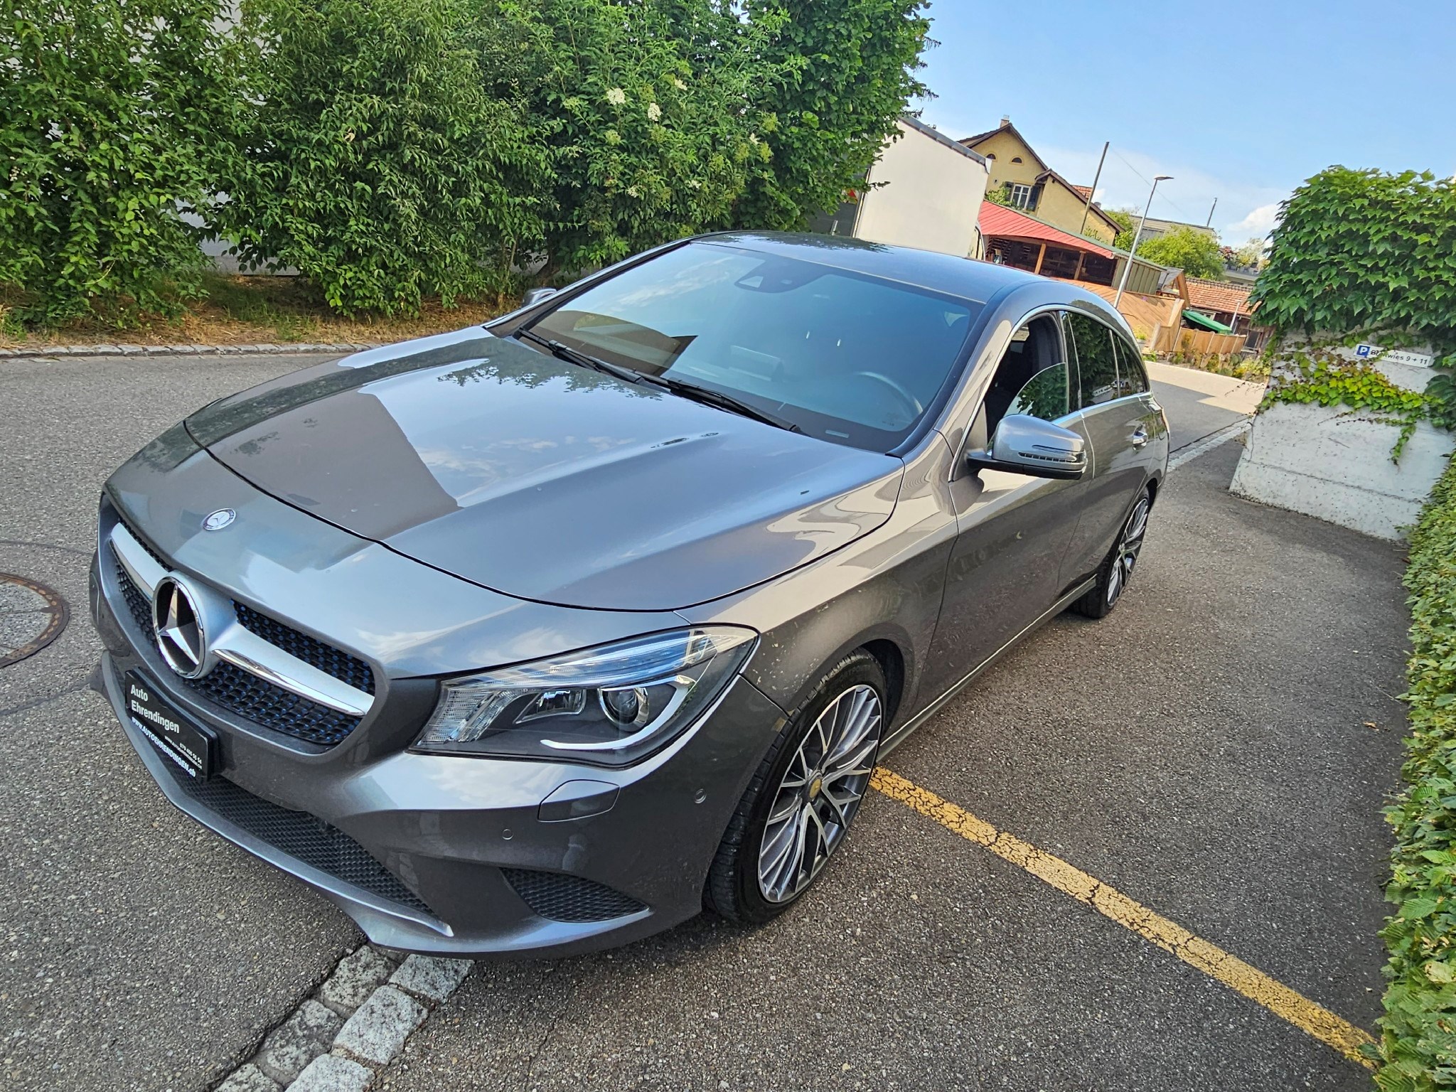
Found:
<svg viewBox="0 0 1456 1092"><path fill-rule="evenodd" d="M214 1092L365 1092L472 965L360 945Z"/></svg>

